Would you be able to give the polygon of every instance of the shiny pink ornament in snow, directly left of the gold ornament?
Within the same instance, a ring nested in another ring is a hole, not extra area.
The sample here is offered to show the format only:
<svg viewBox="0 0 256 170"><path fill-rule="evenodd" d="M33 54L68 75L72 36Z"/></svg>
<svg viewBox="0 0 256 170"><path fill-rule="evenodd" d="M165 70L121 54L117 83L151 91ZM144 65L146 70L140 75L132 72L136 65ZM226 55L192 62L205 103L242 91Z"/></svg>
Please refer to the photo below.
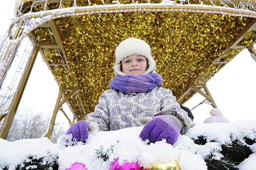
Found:
<svg viewBox="0 0 256 170"><path fill-rule="evenodd" d="M138 162L124 163L123 165L120 165L118 162L118 158L115 158L110 165L110 170L143 170L143 169L139 166Z"/></svg>

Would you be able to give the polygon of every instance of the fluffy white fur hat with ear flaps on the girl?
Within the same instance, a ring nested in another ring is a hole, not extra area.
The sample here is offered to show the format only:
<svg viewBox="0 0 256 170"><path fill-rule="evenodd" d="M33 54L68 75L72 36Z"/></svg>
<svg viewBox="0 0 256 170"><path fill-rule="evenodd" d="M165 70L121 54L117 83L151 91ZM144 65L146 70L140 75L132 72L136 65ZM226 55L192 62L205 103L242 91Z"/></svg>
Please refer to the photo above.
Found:
<svg viewBox="0 0 256 170"><path fill-rule="evenodd" d="M151 55L150 46L144 40L131 37L123 40L116 47L115 65L113 66L114 74L116 76L126 75L121 71L121 67L120 67L121 62L123 61L124 58L132 54L143 55L146 57L148 61L148 68L144 74L155 72L156 62Z"/></svg>

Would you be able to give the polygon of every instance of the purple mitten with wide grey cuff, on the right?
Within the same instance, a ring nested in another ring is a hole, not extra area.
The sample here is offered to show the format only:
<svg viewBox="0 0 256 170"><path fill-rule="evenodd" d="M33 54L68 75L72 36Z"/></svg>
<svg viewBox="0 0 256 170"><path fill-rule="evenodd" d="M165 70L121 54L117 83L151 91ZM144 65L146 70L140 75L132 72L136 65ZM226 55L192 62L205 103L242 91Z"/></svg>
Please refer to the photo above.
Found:
<svg viewBox="0 0 256 170"><path fill-rule="evenodd" d="M167 143L173 145L181 132L178 122L169 115L160 115L153 117L146 123L141 131L142 140L149 139L150 143L155 143L166 139Z"/></svg>

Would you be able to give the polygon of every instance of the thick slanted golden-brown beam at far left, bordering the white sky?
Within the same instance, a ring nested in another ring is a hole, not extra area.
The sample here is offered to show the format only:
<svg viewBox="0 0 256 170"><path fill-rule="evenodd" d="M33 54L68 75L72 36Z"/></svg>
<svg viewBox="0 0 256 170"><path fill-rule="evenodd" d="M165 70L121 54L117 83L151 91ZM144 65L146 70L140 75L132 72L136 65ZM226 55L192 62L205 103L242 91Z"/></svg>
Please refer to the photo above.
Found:
<svg viewBox="0 0 256 170"><path fill-rule="evenodd" d="M18 109L18 104L20 102L20 99L22 97L22 94L24 92L25 86L28 82L29 75L31 73L31 70L33 68L33 65L35 63L37 53L39 51L39 46L35 46L33 49L33 52L31 54L31 57L29 58L27 65L24 69L24 74L22 75L20 82L18 84L17 92L15 93L13 100L9 106L9 113L5 116L4 122L2 124L2 127L0 129L0 137L3 139L6 139L8 136L8 133L10 131L14 116L16 114L16 111Z"/></svg>

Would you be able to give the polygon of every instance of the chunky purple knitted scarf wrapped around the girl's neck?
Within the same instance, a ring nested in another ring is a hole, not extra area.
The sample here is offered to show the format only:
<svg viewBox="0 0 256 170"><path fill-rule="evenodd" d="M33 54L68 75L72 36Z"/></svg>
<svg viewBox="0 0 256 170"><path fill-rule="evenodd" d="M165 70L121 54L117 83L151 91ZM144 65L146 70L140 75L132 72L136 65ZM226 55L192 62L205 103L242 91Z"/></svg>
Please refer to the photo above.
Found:
<svg viewBox="0 0 256 170"><path fill-rule="evenodd" d="M141 75L125 75L113 78L110 87L124 93L129 92L148 92L156 86L163 85L163 78L160 74L149 73Z"/></svg>

